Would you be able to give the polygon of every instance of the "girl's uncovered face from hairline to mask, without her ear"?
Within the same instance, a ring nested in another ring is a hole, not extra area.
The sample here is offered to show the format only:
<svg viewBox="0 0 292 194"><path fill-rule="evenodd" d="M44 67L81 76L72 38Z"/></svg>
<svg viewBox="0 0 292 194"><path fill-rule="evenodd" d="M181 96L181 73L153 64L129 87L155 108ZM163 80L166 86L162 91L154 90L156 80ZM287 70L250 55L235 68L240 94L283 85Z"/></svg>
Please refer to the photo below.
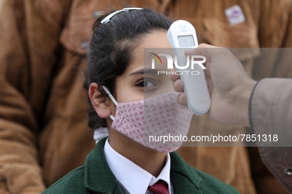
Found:
<svg viewBox="0 0 292 194"><path fill-rule="evenodd" d="M144 48L171 48L167 41L167 32L159 31L147 34L134 50L131 64L126 67L124 74L116 79L116 100L118 102L139 101L174 92L173 82L169 80L168 76L166 74L158 75L157 72L158 70L169 71L167 65L156 65L155 69L152 69L151 57L149 57L150 63L144 64ZM163 64L167 63L163 61Z"/></svg>

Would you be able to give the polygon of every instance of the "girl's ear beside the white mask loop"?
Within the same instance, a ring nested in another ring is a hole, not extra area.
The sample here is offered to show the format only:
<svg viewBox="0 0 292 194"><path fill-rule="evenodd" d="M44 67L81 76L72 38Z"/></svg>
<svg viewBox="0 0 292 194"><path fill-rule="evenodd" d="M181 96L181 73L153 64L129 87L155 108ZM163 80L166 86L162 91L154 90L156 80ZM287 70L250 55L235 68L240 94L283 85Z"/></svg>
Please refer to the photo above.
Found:
<svg viewBox="0 0 292 194"><path fill-rule="evenodd" d="M107 118L112 114L111 106L106 98L98 91L97 83L91 83L88 90L90 101L100 118Z"/></svg>

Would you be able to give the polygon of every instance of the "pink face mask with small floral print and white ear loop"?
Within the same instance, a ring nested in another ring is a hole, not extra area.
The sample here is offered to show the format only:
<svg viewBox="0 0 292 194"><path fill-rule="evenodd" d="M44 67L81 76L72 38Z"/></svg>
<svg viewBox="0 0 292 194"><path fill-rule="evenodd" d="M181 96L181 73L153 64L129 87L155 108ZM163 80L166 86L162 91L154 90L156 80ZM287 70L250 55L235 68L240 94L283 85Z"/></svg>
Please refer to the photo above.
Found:
<svg viewBox="0 0 292 194"><path fill-rule="evenodd" d="M177 103L179 93L167 93L145 100L118 103L112 128L134 141L160 152L174 152L187 135L193 113Z"/></svg>

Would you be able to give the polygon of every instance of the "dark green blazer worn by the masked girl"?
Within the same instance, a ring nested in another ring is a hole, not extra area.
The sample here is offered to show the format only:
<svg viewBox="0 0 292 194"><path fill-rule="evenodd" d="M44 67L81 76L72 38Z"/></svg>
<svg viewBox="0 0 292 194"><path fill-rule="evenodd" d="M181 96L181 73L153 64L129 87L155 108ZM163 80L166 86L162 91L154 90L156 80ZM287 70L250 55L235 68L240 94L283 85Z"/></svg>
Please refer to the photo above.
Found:
<svg viewBox="0 0 292 194"><path fill-rule="evenodd" d="M104 155L106 138L100 140L84 162L58 180L43 194L123 194ZM170 153L170 180L175 194L238 194L218 179L191 167L176 153Z"/></svg>

